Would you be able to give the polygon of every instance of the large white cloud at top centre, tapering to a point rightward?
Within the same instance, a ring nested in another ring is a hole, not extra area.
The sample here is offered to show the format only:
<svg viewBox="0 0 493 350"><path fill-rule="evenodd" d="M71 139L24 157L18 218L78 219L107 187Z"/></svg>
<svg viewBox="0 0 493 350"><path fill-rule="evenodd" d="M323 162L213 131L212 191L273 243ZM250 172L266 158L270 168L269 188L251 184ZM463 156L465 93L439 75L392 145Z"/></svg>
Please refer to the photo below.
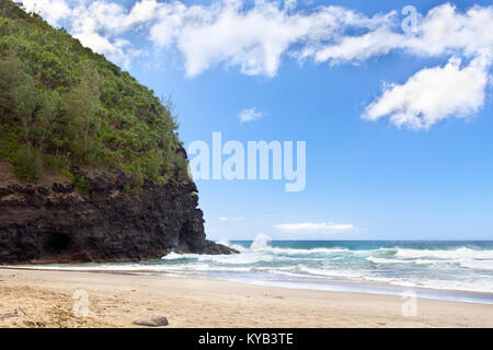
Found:
<svg viewBox="0 0 493 350"><path fill-rule="evenodd" d="M293 45L326 40L346 25L367 27L380 21L380 16L367 19L337 7L295 12L293 1L285 7L256 1L250 9L240 0L208 7L173 2L161 4L150 39L159 46L175 45L190 77L218 63L239 67L248 75L273 77Z"/></svg>

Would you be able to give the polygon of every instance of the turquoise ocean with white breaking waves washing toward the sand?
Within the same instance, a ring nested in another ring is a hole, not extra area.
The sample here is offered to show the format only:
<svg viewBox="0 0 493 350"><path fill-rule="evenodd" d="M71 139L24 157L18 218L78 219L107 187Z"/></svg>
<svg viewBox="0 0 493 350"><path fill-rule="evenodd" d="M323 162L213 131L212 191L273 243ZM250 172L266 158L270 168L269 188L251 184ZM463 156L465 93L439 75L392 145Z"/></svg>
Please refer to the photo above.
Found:
<svg viewBox="0 0 493 350"><path fill-rule="evenodd" d="M171 253L129 264L38 266L197 277L262 285L416 295L493 304L493 241L220 242L239 255ZM30 267L32 268L32 267Z"/></svg>

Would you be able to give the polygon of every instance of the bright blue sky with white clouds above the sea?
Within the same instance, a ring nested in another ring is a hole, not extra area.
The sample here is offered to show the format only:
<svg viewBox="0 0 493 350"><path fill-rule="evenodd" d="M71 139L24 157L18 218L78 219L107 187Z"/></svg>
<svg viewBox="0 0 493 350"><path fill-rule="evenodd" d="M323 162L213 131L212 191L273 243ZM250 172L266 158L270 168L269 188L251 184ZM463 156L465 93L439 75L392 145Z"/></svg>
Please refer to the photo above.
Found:
<svg viewBox="0 0 493 350"><path fill-rule="evenodd" d="M197 179L209 238L493 238L490 1L23 2L171 96L185 148L306 142L303 190Z"/></svg>

